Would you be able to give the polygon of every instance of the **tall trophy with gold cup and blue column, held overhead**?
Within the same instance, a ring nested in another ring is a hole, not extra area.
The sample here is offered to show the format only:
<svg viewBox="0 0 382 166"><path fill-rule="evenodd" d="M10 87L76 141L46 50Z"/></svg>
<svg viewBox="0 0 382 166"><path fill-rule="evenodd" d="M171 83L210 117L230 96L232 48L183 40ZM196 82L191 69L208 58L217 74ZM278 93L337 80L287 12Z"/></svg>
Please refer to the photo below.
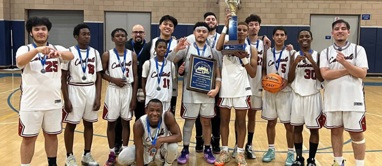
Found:
<svg viewBox="0 0 382 166"><path fill-rule="evenodd" d="M236 16L235 11L238 7L240 0L225 0L230 10L233 12L232 19L228 24L228 44L225 44L222 49L223 55L230 55L235 52L245 52L244 44L239 44L238 41L238 16Z"/></svg>

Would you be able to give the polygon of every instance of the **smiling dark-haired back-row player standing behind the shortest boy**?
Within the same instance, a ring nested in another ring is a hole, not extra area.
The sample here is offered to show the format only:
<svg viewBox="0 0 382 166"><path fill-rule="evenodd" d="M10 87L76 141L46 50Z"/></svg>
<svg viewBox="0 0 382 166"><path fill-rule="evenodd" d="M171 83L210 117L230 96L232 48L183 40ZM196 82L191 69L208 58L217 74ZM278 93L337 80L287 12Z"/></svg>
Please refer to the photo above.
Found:
<svg viewBox="0 0 382 166"><path fill-rule="evenodd" d="M172 33L174 32L176 25L178 25L178 20L176 20L176 18L174 18L173 16L165 15L162 18L160 18L159 20L160 36L152 39L144 47L142 52L143 62L145 62L146 60L152 59L157 55L157 52L155 52L155 42L158 39L164 39L168 44L167 51L165 54L165 58L167 58L168 54L172 52L172 50L176 47L176 44L178 43L176 39L173 39L172 37ZM175 68L178 68L176 63L175 63ZM173 86L172 86L173 90L172 90L170 110L175 115L176 96L178 96L178 75L176 75L176 78L172 81L172 83L173 83Z"/></svg>

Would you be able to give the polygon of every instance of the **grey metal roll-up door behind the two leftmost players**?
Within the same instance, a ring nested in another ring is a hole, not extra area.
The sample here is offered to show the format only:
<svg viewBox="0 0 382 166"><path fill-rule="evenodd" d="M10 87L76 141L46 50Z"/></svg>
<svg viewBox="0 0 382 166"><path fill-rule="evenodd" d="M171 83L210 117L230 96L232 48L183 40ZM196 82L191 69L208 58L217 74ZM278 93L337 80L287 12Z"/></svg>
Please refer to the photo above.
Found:
<svg viewBox="0 0 382 166"><path fill-rule="evenodd" d="M84 23L84 11L82 10L28 10L28 17L47 17L52 22L48 42L65 48L77 43L73 37L73 29L76 25ZM32 37L28 34L28 41L32 43Z"/></svg>

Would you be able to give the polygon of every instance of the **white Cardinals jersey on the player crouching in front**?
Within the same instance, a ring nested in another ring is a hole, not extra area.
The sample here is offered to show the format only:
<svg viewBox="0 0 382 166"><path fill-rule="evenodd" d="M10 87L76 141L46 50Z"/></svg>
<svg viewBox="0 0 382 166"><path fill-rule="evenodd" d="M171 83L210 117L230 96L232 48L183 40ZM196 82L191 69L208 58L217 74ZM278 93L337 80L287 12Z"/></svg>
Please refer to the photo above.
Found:
<svg viewBox="0 0 382 166"><path fill-rule="evenodd" d="M160 138L160 137L168 137L171 135L171 132L170 132L170 129L167 128L167 125L166 125L166 121L165 121L165 115L166 115L166 112L167 111L163 111L162 113L162 122L160 123L160 127L159 127L159 133L158 133L158 137L157 138ZM143 146L151 146L152 143L151 143L151 140L149 138L149 134L148 134L148 130L147 130L147 114L146 115L143 115L139 118L139 121L141 121L141 124L142 124L142 127L143 127L143 136L142 136L142 142L143 142ZM152 140L154 140L154 137L155 137L155 132L158 130L157 127L155 128L152 128L150 125L150 133L151 133L151 138ZM146 153L146 152L145 152Z"/></svg>

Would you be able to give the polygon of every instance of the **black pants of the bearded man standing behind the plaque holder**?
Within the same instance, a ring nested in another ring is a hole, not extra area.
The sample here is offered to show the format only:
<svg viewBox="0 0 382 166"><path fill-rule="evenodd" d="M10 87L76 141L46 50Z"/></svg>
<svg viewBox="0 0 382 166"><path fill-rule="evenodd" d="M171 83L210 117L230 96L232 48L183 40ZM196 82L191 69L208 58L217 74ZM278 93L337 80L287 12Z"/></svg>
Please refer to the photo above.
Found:
<svg viewBox="0 0 382 166"><path fill-rule="evenodd" d="M215 96L215 112L216 116L211 119L211 127L212 127L212 136L215 138L220 138L220 108L217 105L217 101L219 100L219 94ZM201 137L203 135L202 123L200 122L200 116L196 118L195 122L195 130L196 137Z"/></svg>

